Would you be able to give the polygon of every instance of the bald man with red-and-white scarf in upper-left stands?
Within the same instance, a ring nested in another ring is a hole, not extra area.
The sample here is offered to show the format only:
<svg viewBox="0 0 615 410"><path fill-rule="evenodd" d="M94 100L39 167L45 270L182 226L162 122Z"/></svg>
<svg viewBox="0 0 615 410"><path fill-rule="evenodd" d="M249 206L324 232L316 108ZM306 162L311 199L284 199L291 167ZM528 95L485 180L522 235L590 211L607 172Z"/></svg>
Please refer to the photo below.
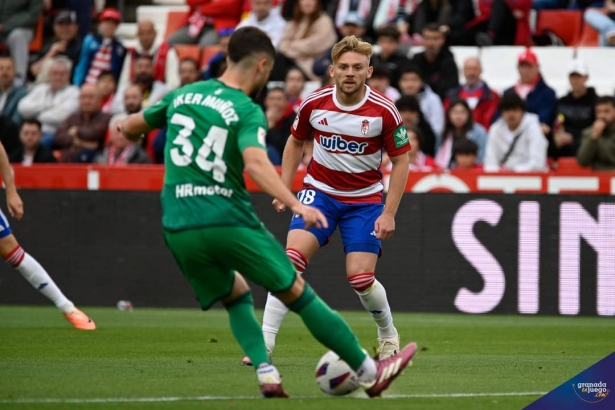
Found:
<svg viewBox="0 0 615 410"><path fill-rule="evenodd" d="M156 34L153 21L141 20L137 23L137 44L128 52L124 60L122 74L118 82L120 86L135 81L135 62L139 56L145 55L152 57L154 80L166 83L169 89L177 88L179 85L175 75L178 64L177 52L168 43L157 42Z"/></svg>

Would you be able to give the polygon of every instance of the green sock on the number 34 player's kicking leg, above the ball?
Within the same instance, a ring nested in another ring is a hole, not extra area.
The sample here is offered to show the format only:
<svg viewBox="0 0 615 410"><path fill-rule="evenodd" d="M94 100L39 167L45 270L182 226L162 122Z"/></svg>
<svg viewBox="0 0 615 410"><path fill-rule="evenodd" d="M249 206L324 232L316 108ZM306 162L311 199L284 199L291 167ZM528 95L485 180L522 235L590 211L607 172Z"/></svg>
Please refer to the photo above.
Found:
<svg viewBox="0 0 615 410"><path fill-rule="evenodd" d="M348 324L306 283L299 299L288 308L301 316L303 323L320 343L333 350L353 369L358 370L366 354Z"/></svg>

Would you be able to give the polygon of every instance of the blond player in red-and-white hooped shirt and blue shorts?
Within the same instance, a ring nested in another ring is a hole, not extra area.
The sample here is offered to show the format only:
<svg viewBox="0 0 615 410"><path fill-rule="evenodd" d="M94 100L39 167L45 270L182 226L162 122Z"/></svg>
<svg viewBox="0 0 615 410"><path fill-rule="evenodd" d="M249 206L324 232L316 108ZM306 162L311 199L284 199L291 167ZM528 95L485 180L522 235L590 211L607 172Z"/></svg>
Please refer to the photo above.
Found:
<svg viewBox="0 0 615 410"><path fill-rule="evenodd" d="M335 85L315 91L301 105L284 150L282 180L291 186L304 143L313 138L313 158L298 196L304 204L323 212L329 228L305 231L301 217L293 216L286 253L297 272L303 273L308 261L339 226L346 276L376 322L383 359L399 351L399 334L386 291L375 277L376 262L381 241L395 232L395 214L408 178L410 144L393 102L365 85L372 73L371 55L372 46L354 36L333 47L330 75ZM383 149L393 164L385 204L380 171ZM277 200L273 206L278 212L285 209ZM270 294L263 318L270 354L287 312L284 304ZM249 360L244 359L244 363L249 364Z"/></svg>

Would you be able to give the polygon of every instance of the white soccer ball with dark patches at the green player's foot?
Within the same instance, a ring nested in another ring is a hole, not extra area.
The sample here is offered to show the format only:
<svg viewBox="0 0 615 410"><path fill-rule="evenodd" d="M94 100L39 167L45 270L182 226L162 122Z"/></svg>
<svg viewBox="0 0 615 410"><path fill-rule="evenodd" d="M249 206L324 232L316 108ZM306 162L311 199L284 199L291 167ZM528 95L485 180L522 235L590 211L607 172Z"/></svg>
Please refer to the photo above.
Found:
<svg viewBox="0 0 615 410"><path fill-rule="evenodd" d="M350 394L359 388L357 374L336 353L329 350L316 366L316 383L332 396Z"/></svg>

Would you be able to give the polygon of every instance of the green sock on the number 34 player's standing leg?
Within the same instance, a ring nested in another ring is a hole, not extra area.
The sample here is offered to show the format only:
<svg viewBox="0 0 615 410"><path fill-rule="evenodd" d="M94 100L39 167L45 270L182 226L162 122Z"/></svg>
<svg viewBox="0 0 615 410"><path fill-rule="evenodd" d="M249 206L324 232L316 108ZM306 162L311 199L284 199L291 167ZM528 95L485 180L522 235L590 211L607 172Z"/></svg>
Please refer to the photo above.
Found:
<svg viewBox="0 0 615 410"><path fill-rule="evenodd" d="M261 325L254 314L254 302L250 292L238 297L225 306L231 321L235 339L252 361L254 368L269 363Z"/></svg>

